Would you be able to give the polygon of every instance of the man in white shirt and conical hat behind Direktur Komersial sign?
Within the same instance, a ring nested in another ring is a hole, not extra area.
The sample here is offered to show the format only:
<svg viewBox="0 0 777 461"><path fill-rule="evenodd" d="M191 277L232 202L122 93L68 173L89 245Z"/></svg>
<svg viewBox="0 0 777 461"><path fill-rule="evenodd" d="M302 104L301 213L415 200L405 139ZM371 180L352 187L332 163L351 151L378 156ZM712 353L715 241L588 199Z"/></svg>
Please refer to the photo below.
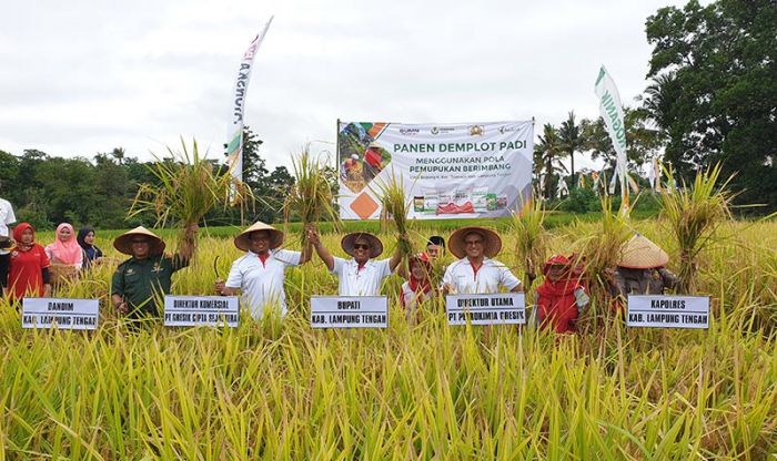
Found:
<svg viewBox="0 0 777 461"><path fill-rule="evenodd" d="M222 296L242 293L243 306L251 309L251 316L256 320L262 319L268 307L280 307L281 317L286 316L285 270L311 258L310 245L302 252L279 249L283 237L281 230L262 222L240 233L234 237L234 246L246 253L232 263L226 281L216 280L214 286Z"/></svg>

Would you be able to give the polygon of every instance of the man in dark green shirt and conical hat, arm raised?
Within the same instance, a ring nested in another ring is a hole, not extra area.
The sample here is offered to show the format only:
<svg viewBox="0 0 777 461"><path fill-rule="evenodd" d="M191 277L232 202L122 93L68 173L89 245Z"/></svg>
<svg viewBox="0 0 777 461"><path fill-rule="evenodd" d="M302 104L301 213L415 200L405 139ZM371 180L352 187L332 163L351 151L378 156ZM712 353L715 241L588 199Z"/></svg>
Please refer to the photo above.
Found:
<svg viewBox="0 0 777 461"><path fill-rule="evenodd" d="M157 301L170 293L173 273L189 266L196 230L196 224L186 228L173 256L165 256L164 242L143 226L117 237L115 249L132 256L117 267L111 280L111 300L119 314L135 319L159 317Z"/></svg>

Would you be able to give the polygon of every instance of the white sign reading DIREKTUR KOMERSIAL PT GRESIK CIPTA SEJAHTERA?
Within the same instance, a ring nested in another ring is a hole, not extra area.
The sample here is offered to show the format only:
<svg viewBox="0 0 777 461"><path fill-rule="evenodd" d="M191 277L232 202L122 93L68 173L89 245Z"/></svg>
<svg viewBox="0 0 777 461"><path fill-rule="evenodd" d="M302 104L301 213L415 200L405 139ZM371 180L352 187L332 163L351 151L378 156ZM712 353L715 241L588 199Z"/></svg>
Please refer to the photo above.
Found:
<svg viewBox="0 0 777 461"><path fill-rule="evenodd" d="M236 296L165 296L165 327L238 327Z"/></svg>

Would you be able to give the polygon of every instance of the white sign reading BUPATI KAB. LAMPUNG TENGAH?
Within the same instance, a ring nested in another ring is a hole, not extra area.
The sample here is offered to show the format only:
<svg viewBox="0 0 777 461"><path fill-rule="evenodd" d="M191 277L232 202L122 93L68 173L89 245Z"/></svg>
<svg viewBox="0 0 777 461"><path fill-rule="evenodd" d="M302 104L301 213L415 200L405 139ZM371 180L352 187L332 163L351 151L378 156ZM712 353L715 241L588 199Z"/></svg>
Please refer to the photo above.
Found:
<svg viewBox="0 0 777 461"><path fill-rule="evenodd" d="M311 296L313 328L387 328L385 296Z"/></svg>

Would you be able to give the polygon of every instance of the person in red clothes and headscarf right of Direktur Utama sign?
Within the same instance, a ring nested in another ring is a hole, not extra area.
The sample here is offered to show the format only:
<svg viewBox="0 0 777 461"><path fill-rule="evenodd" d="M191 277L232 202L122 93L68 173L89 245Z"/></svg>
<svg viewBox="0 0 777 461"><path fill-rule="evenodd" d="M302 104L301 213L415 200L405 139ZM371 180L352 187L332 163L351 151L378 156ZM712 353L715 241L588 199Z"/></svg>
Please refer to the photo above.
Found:
<svg viewBox="0 0 777 461"><path fill-rule="evenodd" d="M577 319L589 299L574 269L573 263L562 255L554 255L545 263L545 279L534 294L529 325L555 332L575 332Z"/></svg>

